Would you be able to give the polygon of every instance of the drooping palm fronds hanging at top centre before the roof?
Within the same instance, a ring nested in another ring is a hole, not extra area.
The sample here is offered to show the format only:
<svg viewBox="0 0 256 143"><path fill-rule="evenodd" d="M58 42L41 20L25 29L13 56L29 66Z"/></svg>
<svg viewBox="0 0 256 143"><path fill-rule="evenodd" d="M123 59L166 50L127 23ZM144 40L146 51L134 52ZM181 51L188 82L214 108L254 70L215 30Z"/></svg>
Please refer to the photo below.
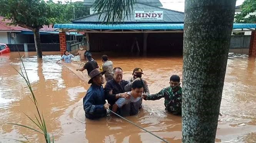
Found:
<svg viewBox="0 0 256 143"><path fill-rule="evenodd" d="M94 10L100 13L99 20L104 13L103 21L107 21L107 23L122 22L124 18L128 18L134 3L136 0L96 0Z"/></svg>

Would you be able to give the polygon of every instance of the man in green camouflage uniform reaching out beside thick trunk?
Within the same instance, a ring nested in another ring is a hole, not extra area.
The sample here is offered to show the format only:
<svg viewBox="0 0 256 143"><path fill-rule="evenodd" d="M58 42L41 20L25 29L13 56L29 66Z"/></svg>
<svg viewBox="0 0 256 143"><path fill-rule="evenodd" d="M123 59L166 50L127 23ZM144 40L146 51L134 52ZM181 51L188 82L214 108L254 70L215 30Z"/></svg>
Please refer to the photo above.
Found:
<svg viewBox="0 0 256 143"><path fill-rule="evenodd" d="M143 94L143 99L159 100L164 97L165 110L173 113L174 115L181 114L182 88L180 86L179 76L172 75L169 83L169 87L165 87L157 94Z"/></svg>

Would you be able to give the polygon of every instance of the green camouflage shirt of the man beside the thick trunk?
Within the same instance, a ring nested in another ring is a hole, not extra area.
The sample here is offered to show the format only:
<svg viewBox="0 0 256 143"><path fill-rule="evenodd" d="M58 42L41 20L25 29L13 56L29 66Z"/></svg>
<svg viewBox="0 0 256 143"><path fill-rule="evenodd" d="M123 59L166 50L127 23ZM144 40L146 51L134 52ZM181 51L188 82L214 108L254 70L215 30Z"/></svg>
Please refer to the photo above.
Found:
<svg viewBox="0 0 256 143"><path fill-rule="evenodd" d="M181 87L179 87L179 90L176 92L172 92L172 88L169 86L165 87L157 94L147 95L146 100L159 100L164 97L164 106L167 111L181 113L181 95Z"/></svg>

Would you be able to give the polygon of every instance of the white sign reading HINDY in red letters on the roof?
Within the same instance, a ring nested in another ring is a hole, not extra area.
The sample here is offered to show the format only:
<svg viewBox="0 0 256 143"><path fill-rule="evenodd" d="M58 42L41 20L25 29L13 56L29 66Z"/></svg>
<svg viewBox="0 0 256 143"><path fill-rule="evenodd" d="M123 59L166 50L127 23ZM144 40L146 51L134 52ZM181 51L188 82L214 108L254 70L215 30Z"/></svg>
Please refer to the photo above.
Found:
<svg viewBox="0 0 256 143"><path fill-rule="evenodd" d="M163 10L134 10L134 20L163 20Z"/></svg>

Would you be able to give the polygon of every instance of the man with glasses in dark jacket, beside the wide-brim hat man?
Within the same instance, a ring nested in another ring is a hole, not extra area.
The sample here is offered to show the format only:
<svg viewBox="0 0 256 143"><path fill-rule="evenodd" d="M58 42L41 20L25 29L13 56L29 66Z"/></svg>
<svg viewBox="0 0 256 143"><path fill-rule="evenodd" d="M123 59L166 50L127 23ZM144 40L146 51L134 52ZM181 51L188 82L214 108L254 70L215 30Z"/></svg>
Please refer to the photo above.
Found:
<svg viewBox="0 0 256 143"><path fill-rule="evenodd" d="M113 69L114 79L109 80L105 85L105 95L109 104L112 106L119 98L128 98L129 94L125 93L124 87L129 82L122 80L123 71L120 67L115 67Z"/></svg>

